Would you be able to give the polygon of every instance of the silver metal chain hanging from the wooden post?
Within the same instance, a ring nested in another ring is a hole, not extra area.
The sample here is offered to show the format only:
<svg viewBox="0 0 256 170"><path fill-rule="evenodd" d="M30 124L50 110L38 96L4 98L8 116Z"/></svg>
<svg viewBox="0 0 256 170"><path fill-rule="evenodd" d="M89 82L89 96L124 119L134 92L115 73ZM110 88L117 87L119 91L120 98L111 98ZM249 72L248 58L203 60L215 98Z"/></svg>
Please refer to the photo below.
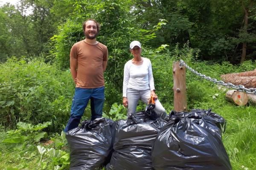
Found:
<svg viewBox="0 0 256 170"><path fill-rule="evenodd" d="M244 91L246 92L247 94L255 94L256 95L256 88L245 88L243 85L233 85L232 83L228 82L228 83L225 83L223 81L217 81L217 79L212 79L211 77L207 77L206 75L204 74L201 74L201 73L198 73L197 71L195 71L194 69L190 68L188 65L186 65L186 63L180 59L180 66L185 66L187 69L189 69L190 71L192 71L193 73L195 73L196 75L200 76L200 77L203 77L204 79L207 79L209 80L210 82L214 82L214 83L217 83L219 85L223 85L227 88L234 88L238 91Z"/></svg>

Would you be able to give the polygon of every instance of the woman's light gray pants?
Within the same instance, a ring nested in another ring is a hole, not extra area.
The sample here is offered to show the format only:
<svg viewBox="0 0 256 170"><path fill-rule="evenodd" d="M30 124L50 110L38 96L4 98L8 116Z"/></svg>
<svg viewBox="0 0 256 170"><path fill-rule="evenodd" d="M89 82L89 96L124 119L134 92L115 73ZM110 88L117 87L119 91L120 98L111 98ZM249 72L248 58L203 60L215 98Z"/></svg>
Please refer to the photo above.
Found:
<svg viewBox="0 0 256 170"><path fill-rule="evenodd" d="M150 99L151 92L150 90L135 90L132 88L127 89L127 99L128 99L128 109L127 109L127 115L129 113L135 113L137 104L139 100L142 100L145 104L148 104L148 101ZM156 107L154 108L154 111L160 115L162 118L165 118L166 111L163 108L162 104L158 99L155 100Z"/></svg>

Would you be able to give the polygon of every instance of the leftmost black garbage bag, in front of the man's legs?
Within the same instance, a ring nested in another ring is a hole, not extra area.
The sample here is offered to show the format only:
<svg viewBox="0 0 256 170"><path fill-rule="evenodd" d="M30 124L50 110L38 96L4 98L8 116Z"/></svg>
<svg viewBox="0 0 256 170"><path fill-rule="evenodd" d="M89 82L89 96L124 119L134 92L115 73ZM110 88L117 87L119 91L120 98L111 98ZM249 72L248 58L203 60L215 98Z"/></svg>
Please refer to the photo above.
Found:
<svg viewBox="0 0 256 170"><path fill-rule="evenodd" d="M95 170L108 164L113 150L113 121L86 120L66 133L70 148L70 170Z"/></svg>

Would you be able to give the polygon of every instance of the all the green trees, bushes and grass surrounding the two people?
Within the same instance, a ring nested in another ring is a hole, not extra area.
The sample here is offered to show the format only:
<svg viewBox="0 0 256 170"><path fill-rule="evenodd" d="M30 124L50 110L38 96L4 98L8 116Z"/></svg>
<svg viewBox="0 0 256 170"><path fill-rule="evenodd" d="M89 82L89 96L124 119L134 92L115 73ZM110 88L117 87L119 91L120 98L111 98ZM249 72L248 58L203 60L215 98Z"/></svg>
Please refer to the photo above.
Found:
<svg viewBox="0 0 256 170"><path fill-rule="evenodd" d="M25 14L29 8L32 13ZM68 169L61 130L75 88L69 52L84 39L84 20L102 26L97 40L109 51L103 115L117 120L126 114L122 77L131 41L139 40L142 56L151 59L156 93L170 112L173 61L183 59L216 79L256 68L255 9L254 0L20 0L1 6L0 169ZM233 169L256 169L256 107L227 102L222 89L189 71L186 79L188 108L212 108L227 120L223 142ZM137 110L144 107L140 103ZM90 106L82 119L88 118Z"/></svg>

